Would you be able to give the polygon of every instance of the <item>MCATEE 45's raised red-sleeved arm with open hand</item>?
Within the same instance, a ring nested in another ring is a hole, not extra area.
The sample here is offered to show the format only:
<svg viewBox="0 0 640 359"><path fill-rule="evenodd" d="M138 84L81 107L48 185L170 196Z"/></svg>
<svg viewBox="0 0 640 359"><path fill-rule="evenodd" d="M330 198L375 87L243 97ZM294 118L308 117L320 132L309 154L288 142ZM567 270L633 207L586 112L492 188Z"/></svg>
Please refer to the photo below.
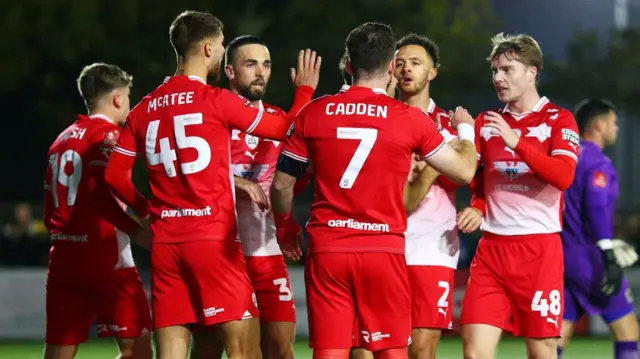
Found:
<svg viewBox="0 0 640 359"><path fill-rule="evenodd" d="M316 56L315 51L300 51L297 70L291 70L291 80L296 94L286 116L266 113L262 109L250 106L246 99L243 101L229 91L221 91L220 96L217 96L217 107L222 112L221 119L231 128L257 137L283 141L295 115L313 98L313 92L318 86L321 62L322 58Z"/></svg>

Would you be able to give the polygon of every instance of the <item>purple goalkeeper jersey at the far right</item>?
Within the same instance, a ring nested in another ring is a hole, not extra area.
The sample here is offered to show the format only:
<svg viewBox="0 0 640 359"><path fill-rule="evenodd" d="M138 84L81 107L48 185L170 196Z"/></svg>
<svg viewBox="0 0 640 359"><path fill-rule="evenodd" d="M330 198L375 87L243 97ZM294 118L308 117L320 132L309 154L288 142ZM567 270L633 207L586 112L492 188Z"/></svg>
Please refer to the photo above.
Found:
<svg viewBox="0 0 640 359"><path fill-rule="evenodd" d="M596 144L581 141L576 176L564 197L561 235L568 272L572 264L587 268L595 264L601 266L596 242L603 238L613 239L617 198L618 176L613 163ZM593 253L598 255L589 255ZM597 263L592 262L595 258Z"/></svg>

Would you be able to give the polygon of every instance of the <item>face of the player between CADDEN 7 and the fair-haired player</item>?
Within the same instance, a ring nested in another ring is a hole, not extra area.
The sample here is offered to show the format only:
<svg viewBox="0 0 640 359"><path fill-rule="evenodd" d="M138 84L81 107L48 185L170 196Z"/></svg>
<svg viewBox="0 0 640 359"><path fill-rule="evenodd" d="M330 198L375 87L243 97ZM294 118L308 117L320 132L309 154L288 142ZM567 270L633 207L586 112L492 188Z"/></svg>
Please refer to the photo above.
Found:
<svg viewBox="0 0 640 359"><path fill-rule="evenodd" d="M433 60L422 46L407 45L396 52L394 76L398 88L405 95L414 95L424 90L438 74Z"/></svg>

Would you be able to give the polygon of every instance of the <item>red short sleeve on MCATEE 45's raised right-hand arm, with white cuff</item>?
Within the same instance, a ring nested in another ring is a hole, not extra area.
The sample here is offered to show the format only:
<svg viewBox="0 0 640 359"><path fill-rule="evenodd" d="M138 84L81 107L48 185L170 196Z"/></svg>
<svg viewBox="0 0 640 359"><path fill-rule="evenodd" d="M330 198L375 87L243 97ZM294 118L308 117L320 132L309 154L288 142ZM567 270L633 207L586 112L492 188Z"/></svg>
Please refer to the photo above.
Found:
<svg viewBox="0 0 640 359"><path fill-rule="evenodd" d="M248 99L226 89L213 89L215 108L220 120L229 128L251 133L260 123L264 109L254 107Z"/></svg>

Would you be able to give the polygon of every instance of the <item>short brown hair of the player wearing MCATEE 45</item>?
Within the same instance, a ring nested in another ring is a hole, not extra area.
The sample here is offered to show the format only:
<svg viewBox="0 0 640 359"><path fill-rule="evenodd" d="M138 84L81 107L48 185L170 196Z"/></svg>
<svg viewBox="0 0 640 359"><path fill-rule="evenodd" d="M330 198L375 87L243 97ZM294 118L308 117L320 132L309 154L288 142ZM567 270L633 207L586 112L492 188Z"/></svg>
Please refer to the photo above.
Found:
<svg viewBox="0 0 640 359"><path fill-rule="evenodd" d="M222 22L208 12L188 10L178 15L169 27L169 40L176 54L188 55L195 44L222 34Z"/></svg>

